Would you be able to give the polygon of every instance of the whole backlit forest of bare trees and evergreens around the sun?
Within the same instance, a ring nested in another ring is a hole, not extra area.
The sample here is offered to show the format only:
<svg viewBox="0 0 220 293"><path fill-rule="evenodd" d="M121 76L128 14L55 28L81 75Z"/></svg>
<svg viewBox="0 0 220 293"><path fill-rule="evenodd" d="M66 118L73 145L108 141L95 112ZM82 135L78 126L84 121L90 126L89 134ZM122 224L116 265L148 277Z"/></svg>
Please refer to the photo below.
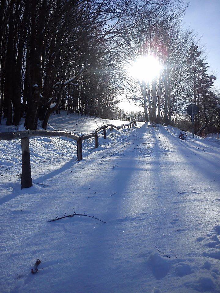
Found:
<svg viewBox="0 0 220 293"><path fill-rule="evenodd" d="M187 6L169 0L2 0L0 122L46 129L50 115L175 125L190 129L185 109L199 107L195 134L219 132L219 91L196 36L182 26ZM159 76L130 74L154 56ZM127 99L142 108L126 113Z"/></svg>

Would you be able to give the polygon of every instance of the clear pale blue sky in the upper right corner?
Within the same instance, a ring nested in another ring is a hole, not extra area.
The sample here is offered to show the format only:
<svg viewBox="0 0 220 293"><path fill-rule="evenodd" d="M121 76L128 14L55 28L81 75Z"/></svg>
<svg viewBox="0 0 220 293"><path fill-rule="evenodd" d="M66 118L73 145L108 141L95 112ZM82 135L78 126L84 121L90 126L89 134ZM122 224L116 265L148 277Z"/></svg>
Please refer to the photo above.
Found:
<svg viewBox="0 0 220 293"><path fill-rule="evenodd" d="M185 0L189 7L185 12L184 25L197 33L199 44L204 45L210 73L217 77L215 86L220 88L220 0Z"/></svg>

